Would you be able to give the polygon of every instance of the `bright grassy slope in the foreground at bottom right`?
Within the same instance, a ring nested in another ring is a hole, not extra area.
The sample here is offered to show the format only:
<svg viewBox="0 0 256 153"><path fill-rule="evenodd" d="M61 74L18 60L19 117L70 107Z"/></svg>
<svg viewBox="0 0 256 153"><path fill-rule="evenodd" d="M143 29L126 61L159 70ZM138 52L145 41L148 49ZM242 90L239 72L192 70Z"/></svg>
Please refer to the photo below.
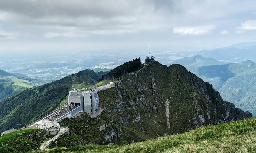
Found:
<svg viewBox="0 0 256 153"><path fill-rule="evenodd" d="M124 146L91 144L71 148L46 149L36 152L252 153L256 152L256 119L239 120L217 126L202 127L183 134Z"/></svg>

